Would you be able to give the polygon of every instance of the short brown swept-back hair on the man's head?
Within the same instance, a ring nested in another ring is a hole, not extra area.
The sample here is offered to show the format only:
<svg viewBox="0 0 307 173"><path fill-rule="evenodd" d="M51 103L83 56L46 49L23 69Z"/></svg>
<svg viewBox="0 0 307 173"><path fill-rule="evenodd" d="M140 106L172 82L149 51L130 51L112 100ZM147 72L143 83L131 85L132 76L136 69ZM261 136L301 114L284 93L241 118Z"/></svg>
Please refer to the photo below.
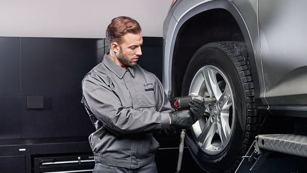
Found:
<svg viewBox="0 0 307 173"><path fill-rule="evenodd" d="M106 41L111 48L112 42L117 42L121 44L122 36L127 33L138 34L141 33L142 29L140 24L137 20L126 17L126 16L119 16L113 18L111 24L109 24L105 31Z"/></svg>

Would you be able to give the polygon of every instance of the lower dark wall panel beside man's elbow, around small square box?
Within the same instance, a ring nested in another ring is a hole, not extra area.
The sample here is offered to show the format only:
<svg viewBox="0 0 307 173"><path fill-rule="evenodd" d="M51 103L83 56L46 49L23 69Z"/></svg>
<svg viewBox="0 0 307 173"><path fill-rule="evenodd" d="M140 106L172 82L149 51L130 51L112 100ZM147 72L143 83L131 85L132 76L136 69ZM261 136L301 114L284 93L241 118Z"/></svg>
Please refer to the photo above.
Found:
<svg viewBox="0 0 307 173"><path fill-rule="evenodd" d="M23 98L23 138L89 136L94 132L79 96L45 96L44 109L26 109Z"/></svg>

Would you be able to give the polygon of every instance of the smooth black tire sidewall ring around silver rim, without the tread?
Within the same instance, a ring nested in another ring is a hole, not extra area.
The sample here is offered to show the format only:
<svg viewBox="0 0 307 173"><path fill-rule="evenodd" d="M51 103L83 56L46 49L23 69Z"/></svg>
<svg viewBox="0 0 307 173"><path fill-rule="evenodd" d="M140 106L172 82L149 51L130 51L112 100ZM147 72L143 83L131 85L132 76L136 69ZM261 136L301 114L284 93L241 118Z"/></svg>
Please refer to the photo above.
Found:
<svg viewBox="0 0 307 173"><path fill-rule="evenodd" d="M244 90L240 81L238 72L233 64L231 57L227 55L223 50L215 47L206 47L199 49L192 57L187 71L184 76L182 84L182 96L186 96L189 93L190 83L196 72L198 72L204 66L215 66L220 69L229 81L230 88L234 96L234 120L232 124L232 132L230 134L230 140L224 150L217 155L208 155L202 152L200 157L199 153L192 153L196 162L198 162L207 171L223 172L223 167L232 166L237 157L239 156L241 147L243 145L246 125L246 106L244 103ZM190 134L191 135L191 134ZM193 137L190 136L192 139ZM232 162L233 161L233 162ZM210 166L206 166L206 165ZM223 165L223 166L222 166Z"/></svg>

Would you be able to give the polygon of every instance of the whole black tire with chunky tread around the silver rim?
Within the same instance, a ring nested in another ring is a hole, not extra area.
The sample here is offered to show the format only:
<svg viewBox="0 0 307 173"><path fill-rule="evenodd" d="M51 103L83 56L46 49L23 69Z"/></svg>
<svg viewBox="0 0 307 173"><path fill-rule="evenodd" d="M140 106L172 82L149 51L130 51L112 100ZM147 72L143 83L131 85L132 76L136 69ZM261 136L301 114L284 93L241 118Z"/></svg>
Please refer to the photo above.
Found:
<svg viewBox="0 0 307 173"><path fill-rule="evenodd" d="M187 67L182 96L189 94L195 74L204 66L214 66L226 74L233 91L234 118L229 142L217 155L206 154L196 144L191 131L186 133L187 146L195 161L208 172L234 172L259 129L255 109L254 84L247 48L242 42L213 42L195 52Z"/></svg>

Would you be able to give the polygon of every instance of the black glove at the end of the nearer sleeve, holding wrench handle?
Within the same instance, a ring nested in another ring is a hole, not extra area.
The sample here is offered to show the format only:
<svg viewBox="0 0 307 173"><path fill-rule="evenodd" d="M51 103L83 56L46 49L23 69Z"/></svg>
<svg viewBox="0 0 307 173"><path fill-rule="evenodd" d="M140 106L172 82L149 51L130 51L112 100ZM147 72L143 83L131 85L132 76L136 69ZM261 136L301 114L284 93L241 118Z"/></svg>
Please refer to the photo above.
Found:
<svg viewBox="0 0 307 173"><path fill-rule="evenodd" d="M176 111L169 113L170 128L184 129L191 127L195 121L193 120L193 114L190 110Z"/></svg>

